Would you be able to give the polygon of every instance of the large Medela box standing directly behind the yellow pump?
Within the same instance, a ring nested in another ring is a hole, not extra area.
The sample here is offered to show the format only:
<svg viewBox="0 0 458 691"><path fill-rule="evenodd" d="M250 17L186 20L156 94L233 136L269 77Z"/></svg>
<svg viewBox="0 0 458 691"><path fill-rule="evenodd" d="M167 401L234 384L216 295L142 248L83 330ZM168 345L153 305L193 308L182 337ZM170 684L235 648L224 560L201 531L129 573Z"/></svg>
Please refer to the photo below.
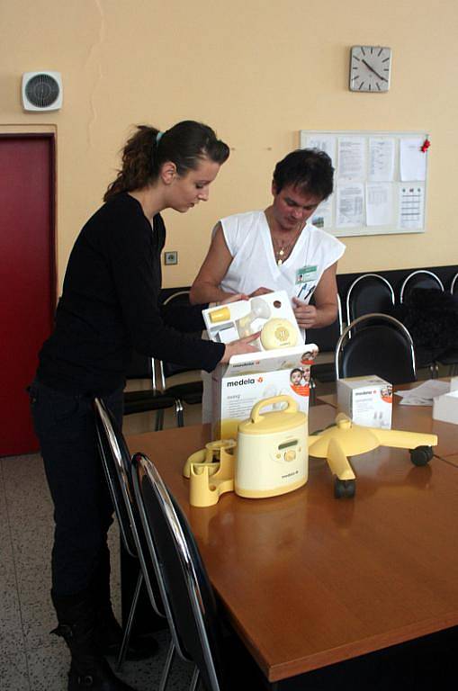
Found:
<svg viewBox="0 0 458 691"><path fill-rule="evenodd" d="M233 355L211 374L212 439L236 439L238 424L246 420L258 400L288 394L308 413L310 365L318 354L315 344L281 350ZM282 403L274 404L282 406ZM273 406L265 407L265 412Z"/></svg>

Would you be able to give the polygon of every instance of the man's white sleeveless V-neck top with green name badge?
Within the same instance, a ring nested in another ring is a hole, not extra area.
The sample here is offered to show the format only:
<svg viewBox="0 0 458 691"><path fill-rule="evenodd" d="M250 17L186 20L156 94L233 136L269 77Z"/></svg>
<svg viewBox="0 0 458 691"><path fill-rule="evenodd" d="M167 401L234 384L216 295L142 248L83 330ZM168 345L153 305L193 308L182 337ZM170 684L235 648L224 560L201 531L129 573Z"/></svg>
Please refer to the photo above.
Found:
<svg viewBox="0 0 458 691"><path fill-rule="evenodd" d="M227 292L249 294L264 286L309 302L322 274L346 249L340 240L307 222L291 255L278 266L264 211L238 213L220 224L233 257L220 283Z"/></svg>

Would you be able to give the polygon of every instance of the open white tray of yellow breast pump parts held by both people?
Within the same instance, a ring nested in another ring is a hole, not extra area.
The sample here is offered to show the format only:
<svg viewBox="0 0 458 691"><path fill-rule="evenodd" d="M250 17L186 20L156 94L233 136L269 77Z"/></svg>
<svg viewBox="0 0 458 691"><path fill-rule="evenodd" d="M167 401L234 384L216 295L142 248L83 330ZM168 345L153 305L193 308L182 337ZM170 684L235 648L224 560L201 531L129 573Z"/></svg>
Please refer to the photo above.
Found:
<svg viewBox="0 0 458 691"><path fill-rule="evenodd" d="M301 344L301 330L285 291L211 307L202 315L211 341L230 343L261 331L252 344L261 351Z"/></svg>

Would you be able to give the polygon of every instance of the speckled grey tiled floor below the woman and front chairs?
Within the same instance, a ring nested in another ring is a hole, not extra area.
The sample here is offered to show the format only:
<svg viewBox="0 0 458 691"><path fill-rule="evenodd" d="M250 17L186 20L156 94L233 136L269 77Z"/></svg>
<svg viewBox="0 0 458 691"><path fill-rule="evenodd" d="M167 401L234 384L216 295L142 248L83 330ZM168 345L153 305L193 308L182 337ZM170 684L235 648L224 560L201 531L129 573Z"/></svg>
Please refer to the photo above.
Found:
<svg viewBox="0 0 458 691"><path fill-rule="evenodd" d="M198 407L195 407L198 408ZM197 422L196 409L188 417ZM168 421L173 424L173 421ZM168 426L168 425L167 425ZM0 459L0 689L66 691L69 656L50 635L57 623L49 597L52 503L39 454ZM113 606L119 611L119 536L110 534ZM126 662L121 675L138 691L155 691L168 635L158 633L157 657ZM170 689L189 687L192 666L175 660Z"/></svg>

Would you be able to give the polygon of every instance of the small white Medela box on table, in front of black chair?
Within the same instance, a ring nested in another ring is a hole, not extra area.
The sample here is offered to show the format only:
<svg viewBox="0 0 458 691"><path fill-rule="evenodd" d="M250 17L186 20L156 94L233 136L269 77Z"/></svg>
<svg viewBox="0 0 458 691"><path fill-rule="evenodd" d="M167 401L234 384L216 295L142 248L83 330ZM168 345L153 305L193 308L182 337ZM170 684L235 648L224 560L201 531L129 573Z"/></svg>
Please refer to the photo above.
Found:
<svg viewBox="0 0 458 691"><path fill-rule="evenodd" d="M337 380L337 408L355 425L391 429L393 388L376 375Z"/></svg>

